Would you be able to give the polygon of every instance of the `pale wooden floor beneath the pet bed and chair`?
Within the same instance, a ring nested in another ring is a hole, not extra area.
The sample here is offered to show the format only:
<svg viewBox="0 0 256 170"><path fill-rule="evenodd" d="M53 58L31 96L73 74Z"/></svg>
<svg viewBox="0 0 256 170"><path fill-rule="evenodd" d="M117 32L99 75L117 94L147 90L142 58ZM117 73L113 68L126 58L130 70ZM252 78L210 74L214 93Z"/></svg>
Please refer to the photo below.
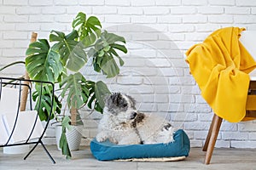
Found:
<svg viewBox="0 0 256 170"><path fill-rule="evenodd" d="M119 161L96 161L91 155L89 147L82 147L73 151L73 159L66 160L55 145L48 145L47 148L55 158L53 164L44 150L39 146L26 161L24 155L7 155L0 150L0 170L51 170L51 169L256 169L256 150L245 149L215 149L210 165L204 165L205 153L201 148L192 148L189 157L184 161L170 162L119 162Z"/></svg>

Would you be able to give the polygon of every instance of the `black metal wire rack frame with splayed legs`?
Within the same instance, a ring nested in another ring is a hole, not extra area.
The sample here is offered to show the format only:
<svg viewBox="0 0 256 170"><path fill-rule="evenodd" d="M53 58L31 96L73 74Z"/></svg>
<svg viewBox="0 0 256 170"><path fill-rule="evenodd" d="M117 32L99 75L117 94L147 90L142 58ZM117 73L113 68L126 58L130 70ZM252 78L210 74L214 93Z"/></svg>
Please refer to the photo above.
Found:
<svg viewBox="0 0 256 170"><path fill-rule="evenodd" d="M19 119L19 113L20 113L20 99L21 99L21 91L24 87L27 87L28 88L28 93L29 93L29 108L28 110L29 111L32 111L32 88L31 88L31 84L33 82L36 82L37 85L40 86L40 93L39 93L39 105L38 105L38 109L40 108L41 106L41 100L42 100L42 94L43 94L43 87L44 86L49 86L51 89L52 89L52 94L51 94L51 108L50 108L50 113L49 113L49 116L48 116L48 120L46 122L46 125L44 127L44 131L43 133L40 135L40 137L38 139L33 139L33 141L31 141L31 136L32 136L32 133L36 127L36 124L37 124L37 121L38 121L38 115L36 116L36 119L34 120L33 124L32 124L32 130L29 134L29 136L27 136L27 139L26 141L23 141L23 142L19 142L19 143L15 143L15 144L11 144L10 143L10 140L12 139L13 137L13 134L15 132L15 127L16 127L16 124L17 124L17 121ZM10 78L10 77L0 77L0 102L1 100L4 100L3 99L3 96L2 96L2 90L3 90L3 87L9 87L9 88L18 88L19 89L19 104L18 104L18 108L17 108L17 112L16 112L16 116L15 116L15 123L14 123L14 126L12 127L11 129L11 133L9 134L9 139L7 140L7 142L5 144L0 144L0 147L6 147L6 146L15 146L15 145L24 145L24 144L34 144L34 146L32 147L32 150L30 150L27 155L24 157L24 160L26 160L26 158L28 156L30 156L30 154L32 153L33 150L36 149L36 147L38 146L38 144L41 144L46 152L46 154L49 156L49 159L55 163L55 160L53 159L53 157L49 154L49 151L46 149L42 139L44 137L44 133L46 132L46 129L47 127L49 126L49 121L50 121L50 117L51 115L53 114L53 105L54 105L54 84L52 82L42 82L42 81L34 81L34 80L25 80L25 79L17 79L17 78ZM0 138L1 138L1 134L0 134Z"/></svg>

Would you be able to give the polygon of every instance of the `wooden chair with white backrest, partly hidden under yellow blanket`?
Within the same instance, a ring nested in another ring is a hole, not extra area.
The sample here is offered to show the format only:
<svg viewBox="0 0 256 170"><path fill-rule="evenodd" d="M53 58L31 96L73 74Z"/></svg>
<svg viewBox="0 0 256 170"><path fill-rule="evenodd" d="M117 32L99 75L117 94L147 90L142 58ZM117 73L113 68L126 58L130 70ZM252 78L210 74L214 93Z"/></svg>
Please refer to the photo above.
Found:
<svg viewBox="0 0 256 170"><path fill-rule="evenodd" d="M241 32L240 41L247 48L247 51L256 59L256 31L243 31ZM247 105L246 105L246 117L245 120L256 119L256 69L250 73L250 85L247 95ZM253 105L254 104L254 105ZM222 123L222 118L216 114L212 117L212 123L207 134L206 142L203 146L203 151L207 151L205 164L209 164L212 158L212 152L216 139L218 137L218 132Z"/></svg>

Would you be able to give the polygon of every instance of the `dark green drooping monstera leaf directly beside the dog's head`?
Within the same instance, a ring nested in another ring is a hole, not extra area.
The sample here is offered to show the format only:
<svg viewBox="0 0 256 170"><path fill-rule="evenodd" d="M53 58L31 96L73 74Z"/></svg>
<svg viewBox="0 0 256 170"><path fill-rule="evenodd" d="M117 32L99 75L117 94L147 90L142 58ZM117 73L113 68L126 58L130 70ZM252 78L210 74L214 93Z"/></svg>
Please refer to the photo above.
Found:
<svg viewBox="0 0 256 170"><path fill-rule="evenodd" d="M99 111L102 113L103 108L104 108L104 98L108 95L111 94L108 86L102 82L91 82L88 81L86 83L87 88L90 90L90 99L87 103L88 107L90 109L95 109L96 111ZM92 104L94 103L94 106Z"/></svg>

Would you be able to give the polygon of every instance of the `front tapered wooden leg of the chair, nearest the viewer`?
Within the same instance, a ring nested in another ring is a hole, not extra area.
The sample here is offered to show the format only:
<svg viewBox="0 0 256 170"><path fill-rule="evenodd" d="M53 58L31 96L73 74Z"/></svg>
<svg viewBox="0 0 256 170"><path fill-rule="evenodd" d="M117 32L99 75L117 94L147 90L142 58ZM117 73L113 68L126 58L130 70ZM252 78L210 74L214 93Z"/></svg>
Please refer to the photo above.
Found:
<svg viewBox="0 0 256 170"><path fill-rule="evenodd" d="M214 146L215 146L215 143L216 143L216 139L218 137L219 128L220 128L221 123L222 123L222 118L221 117L216 115L215 119L216 120L213 122L213 125L212 125L212 134L209 137L205 164L209 164L210 161L211 161L212 152L213 152L213 149L214 149Z"/></svg>

